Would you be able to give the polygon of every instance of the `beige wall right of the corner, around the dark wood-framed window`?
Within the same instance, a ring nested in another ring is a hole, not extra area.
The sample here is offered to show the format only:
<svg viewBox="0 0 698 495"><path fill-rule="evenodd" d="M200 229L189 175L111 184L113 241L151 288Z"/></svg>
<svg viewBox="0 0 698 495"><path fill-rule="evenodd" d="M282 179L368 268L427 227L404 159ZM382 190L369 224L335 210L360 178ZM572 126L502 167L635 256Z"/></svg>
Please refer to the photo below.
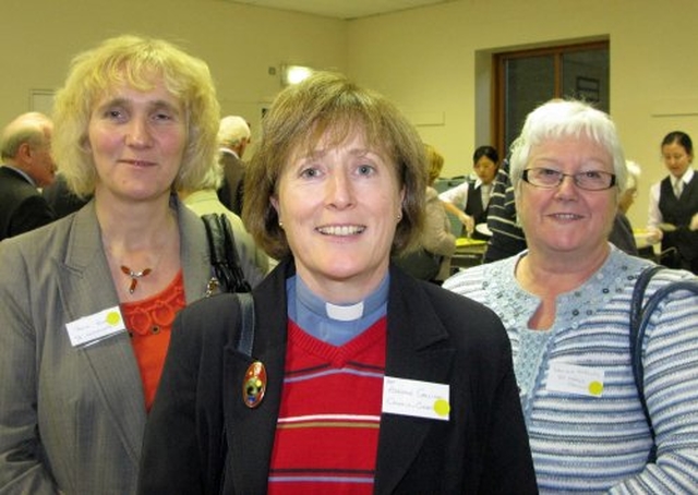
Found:
<svg viewBox="0 0 698 495"><path fill-rule="evenodd" d="M483 53L609 39L611 113L643 170L629 215L641 227L649 184L665 176L662 137L678 129L698 146L696 19L695 0L462 0L349 23L348 72L411 114L456 176L489 144Z"/></svg>

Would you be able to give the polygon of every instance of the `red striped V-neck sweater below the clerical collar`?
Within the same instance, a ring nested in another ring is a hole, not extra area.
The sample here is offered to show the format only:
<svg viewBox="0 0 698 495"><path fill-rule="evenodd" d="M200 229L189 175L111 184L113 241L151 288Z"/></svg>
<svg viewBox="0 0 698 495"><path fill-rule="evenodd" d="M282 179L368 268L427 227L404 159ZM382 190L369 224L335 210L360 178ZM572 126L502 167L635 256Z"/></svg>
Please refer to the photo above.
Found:
<svg viewBox="0 0 698 495"><path fill-rule="evenodd" d="M373 493L385 317L340 347L288 331L268 493Z"/></svg>

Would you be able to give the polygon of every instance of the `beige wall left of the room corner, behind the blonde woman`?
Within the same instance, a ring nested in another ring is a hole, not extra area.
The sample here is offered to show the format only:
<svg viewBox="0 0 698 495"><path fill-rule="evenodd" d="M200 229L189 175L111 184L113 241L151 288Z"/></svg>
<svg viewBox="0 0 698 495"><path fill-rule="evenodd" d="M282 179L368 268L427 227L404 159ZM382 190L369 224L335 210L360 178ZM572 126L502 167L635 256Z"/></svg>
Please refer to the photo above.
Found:
<svg viewBox="0 0 698 495"><path fill-rule="evenodd" d="M75 53L117 34L167 38L206 60L222 111L253 132L281 63L346 64L347 23L221 0L2 0L0 16L0 125L29 109L33 89L59 87Z"/></svg>

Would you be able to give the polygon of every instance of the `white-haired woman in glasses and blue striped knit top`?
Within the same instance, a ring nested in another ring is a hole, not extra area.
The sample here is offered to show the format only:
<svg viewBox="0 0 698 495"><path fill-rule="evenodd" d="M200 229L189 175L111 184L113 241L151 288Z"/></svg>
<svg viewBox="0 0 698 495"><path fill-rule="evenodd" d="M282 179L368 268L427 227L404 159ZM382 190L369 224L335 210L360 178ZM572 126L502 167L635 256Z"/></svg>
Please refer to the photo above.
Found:
<svg viewBox="0 0 698 495"><path fill-rule="evenodd" d="M643 341L645 397L629 355L630 300L653 263L609 242L627 169L607 114L574 100L533 110L512 146L528 250L444 287L504 322L541 493L698 493L698 297L661 304ZM655 275L648 295L684 270Z"/></svg>

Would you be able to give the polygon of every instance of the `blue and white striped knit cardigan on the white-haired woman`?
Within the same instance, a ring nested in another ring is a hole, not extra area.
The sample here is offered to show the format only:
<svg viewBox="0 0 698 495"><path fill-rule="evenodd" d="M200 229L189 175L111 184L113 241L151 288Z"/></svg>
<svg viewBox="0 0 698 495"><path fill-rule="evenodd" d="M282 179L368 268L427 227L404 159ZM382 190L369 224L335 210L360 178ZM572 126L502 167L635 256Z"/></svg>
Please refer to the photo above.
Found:
<svg viewBox="0 0 698 495"><path fill-rule="evenodd" d="M661 304L645 340L646 398L659 458L633 379L628 318L635 280L649 262L613 249L601 270L557 299L549 331L530 330L539 299L514 277L518 257L469 268L445 288L492 307L512 340L515 371L541 493L698 493L698 299ZM664 270L648 294L669 280ZM550 367L566 363L604 372L601 397L547 389Z"/></svg>

